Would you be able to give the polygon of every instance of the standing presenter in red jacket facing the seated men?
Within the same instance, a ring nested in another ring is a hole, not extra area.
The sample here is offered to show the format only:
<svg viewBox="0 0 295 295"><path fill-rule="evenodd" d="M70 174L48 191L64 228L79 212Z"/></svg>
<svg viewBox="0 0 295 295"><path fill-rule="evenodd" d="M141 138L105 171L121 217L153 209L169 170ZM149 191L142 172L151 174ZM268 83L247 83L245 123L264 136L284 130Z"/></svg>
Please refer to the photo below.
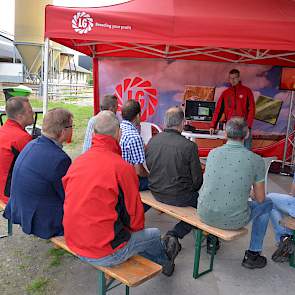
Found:
<svg viewBox="0 0 295 295"><path fill-rule="evenodd" d="M226 122L231 117L243 117L247 121L249 128L249 136L245 139L244 145L251 149L251 128L255 117L254 96L250 88L242 85L239 70L233 69L229 72L229 82L231 87L224 90L217 101L210 124L210 133L213 134L223 114Z"/></svg>

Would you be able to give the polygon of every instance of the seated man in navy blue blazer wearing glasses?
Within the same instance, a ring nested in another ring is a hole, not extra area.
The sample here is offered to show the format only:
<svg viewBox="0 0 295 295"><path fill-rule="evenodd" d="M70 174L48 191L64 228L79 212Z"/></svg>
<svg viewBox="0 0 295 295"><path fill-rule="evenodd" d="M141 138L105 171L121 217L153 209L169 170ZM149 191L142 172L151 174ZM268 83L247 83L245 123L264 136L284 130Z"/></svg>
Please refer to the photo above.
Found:
<svg viewBox="0 0 295 295"><path fill-rule="evenodd" d="M4 217L20 224L26 234L43 239L63 235L61 179L71 159L62 150L62 143L71 138L72 117L65 109L48 111L42 135L27 144L16 160Z"/></svg>

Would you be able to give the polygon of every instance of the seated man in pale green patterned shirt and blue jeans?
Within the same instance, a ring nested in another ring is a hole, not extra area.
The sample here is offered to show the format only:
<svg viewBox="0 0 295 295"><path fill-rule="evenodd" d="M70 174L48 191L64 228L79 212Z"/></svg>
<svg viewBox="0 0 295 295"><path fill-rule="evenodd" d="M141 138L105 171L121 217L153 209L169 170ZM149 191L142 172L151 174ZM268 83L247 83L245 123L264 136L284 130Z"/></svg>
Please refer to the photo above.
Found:
<svg viewBox="0 0 295 295"><path fill-rule="evenodd" d="M208 155L197 211L203 222L221 229L238 229L252 220L242 265L263 268L267 260L260 254L272 209L271 200L265 198L264 161L243 145L248 135L243 118L232 117L225 130L227 143ZM248 201L252 185L253 200Z"/></svg>

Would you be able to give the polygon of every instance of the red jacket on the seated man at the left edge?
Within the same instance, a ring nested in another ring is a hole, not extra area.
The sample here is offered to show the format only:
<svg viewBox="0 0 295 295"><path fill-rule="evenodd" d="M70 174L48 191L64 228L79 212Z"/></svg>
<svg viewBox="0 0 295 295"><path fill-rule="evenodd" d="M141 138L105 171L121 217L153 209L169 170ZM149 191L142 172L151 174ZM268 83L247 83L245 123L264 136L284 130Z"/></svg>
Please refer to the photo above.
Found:
<svg viewBox="0 0 295 295"><path fill-rule="evenodd" d="M0 128L0 200L8 202L15 160L32 137L16 121L8 119Z"/></svg>

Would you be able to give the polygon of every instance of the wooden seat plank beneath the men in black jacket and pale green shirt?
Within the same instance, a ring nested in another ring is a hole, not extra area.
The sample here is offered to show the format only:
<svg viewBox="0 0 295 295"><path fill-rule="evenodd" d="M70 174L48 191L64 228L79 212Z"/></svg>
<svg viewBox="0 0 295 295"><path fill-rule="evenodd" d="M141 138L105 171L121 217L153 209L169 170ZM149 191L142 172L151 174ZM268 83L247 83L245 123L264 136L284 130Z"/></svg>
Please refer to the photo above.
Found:
<svg viewBox="0 0 295 295"><path fill-rule="evenodd" d="M140 192L141 200L143 203L160 210L170 216L173 216L179 220L185 221L201 230L204 230L216 237L219 237L225 241L234 240L242 235L248 233L246 228L241 228L238 230L224 230L212 227L205 224L200 220L196 209L193 207L176 207L171 205L166 205L164 203L158 202L152 195L150 191Z"/></svg>

